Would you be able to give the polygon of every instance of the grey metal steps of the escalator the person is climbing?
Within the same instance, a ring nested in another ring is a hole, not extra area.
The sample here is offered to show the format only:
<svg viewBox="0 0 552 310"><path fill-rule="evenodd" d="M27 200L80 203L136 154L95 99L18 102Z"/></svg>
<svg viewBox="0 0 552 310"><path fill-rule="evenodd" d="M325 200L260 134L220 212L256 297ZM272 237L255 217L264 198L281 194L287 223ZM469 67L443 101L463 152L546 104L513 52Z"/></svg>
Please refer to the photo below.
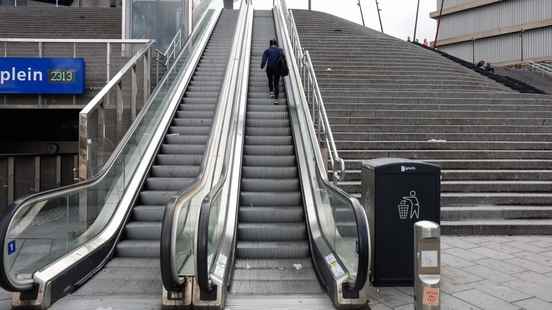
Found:
<svg viewBox="0 0 552 310"><path fill-rule="evenodd" d="M281 83L271 99L260 70L275 38L271 11L255 11L233 294L321 294L310 260L297 160Z"/></svg>

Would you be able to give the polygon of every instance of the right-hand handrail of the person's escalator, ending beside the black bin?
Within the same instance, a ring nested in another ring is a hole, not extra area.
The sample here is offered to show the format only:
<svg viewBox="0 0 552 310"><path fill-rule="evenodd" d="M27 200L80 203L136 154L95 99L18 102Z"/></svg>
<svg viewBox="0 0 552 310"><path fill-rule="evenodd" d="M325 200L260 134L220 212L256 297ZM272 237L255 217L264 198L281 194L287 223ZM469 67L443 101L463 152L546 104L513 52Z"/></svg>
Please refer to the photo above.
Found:
<svg viewBox="0 0 552 310"><path fill-rule="evenodd" d="M280 4L284 3L285 0L275 0L275 4L279 2ZM285 4L284 4L285 5ZM275 5L274 6L275 9L277 10L280 18L282 19L282 31L284 33L284 36L285 36L285 39L289 40L291 42L291 38L289 36L289 30L287 29L287 19L286 19L286 14L284 14L283 10L282 10L282 5ZM287 42L284 42L284 43L287 43ZM291 43L289 43L289 45L291 46ZM286 51L286 53L291 56L291 57L295 57L294 53L291 52L291 51ZM293 59L293 60L288 60L288 65L294 65L295 66L293 67L294 70L298 70L297 67L296 67L296 60ZM292 72L291 70L292 68L290 68L290 75L294 74L294 75L299 75L298 72ZM364 208L362 207L362 205L360 204L360 202L353 198L351 195L349 195L348 193L346 193L345 191L343 191L342 189L338 188L337 186L335 186L333 183L331 183L329 180L328 180L328 176L327 176L327 173L326 170L325 170L325 166L323 164L323 159L322 159L322 154L321 154L321 151L320 151L320 146L319 146L319 143L318 143L318 139L316 137L316 133L314 132L314 125L313 125L313 121L312 121L312 118L310 117L310 113L308 112L309 109L308 107L306 106L306 99L305 99L305 92L304 92L304 89L303 89L303 86L301 85L301 82L299 81L297 83L297 87L300 89L299 92L301 94L301 99L300 100L300 104L299 104L299 107L303 110L303 114L305 115L305 120L307 122L307 131L308 131L308 141L310 141L310 144L313 148L313 150L315 151L315 164L316 164L316 176L317 178L319 179L319 181L321 181L321 185L323 185L326 189L328 190L331 190L332 192L340 195L342 198L346 199L349 204L351 205L352 207L352 210L353 210L353 214L354 214L354 218L355 218L355 223L357 225L357 237L358 237L358 267L357 267L357 276L355 278L355 285L354 285L354 289L355 290L360 290L364 287L364 285L366 284L366 281L368 279L368 273L370 271L370 266L371 266L371 261L372 261L372 257L371 257L371 251L370 251L370 248L371 248L371 244L370 244L370 228L369 228L369 225L368 225L368 219L367 219L367 216L366 216L366 212L364 210ZM328 242L328 240L326 239L326 237L324 236L324 234L322 234L323 238L326 240L326 242Z"/></svg>

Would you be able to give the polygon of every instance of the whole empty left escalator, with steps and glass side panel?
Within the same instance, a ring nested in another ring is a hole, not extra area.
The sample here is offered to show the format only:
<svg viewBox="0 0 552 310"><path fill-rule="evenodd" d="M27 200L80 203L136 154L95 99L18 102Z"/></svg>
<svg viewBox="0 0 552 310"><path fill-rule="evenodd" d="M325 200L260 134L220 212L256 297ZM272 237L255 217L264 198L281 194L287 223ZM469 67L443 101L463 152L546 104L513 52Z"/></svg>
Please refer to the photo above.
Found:
<svg viewBox="0 0 552 310"><path fill-rule="evenodd" d="M166 205L212 174L205 159L218 156L229 120L221 102L238 12L212 3L102 170L26 197L2 219L0 284L16 305L161 306Z"/></svg>

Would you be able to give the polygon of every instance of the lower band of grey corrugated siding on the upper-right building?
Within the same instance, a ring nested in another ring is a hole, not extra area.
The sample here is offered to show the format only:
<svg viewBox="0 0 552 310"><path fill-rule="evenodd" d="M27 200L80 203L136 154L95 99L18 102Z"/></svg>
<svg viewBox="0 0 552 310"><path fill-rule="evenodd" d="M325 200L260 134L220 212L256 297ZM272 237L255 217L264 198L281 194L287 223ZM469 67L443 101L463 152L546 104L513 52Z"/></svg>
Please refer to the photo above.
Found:
<svg viewBox="0 0 552 310"><path fill-rule="evenodd" d="M472 42L447 45L441 50L466 61L480 60L491 63L521 62L521 34L514 33ZM552 57L552 27L526 31L523 33L523 58Z"/></svg>

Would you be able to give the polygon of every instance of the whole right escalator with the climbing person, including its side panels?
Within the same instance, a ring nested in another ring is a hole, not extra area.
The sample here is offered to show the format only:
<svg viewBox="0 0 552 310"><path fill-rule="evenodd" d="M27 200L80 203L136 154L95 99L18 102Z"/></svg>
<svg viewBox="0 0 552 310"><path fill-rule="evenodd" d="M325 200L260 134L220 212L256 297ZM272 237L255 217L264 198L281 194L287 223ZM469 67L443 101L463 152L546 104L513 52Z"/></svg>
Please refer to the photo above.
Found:
<svg viewBox="0 0 552 310"><path fill-rule="evenodd" d="M185 273L163 264L163 281L172 292L186 291L183 304L193 307L362 308L371 265L366 213L328 180L285 2L274 3L273 11L248 15L225 173L202 201L197 224L186 222L196 242L176 233L162 244L162 257L194 259ZM278 100L260 69L273 38L290 71Z"/></svg>

